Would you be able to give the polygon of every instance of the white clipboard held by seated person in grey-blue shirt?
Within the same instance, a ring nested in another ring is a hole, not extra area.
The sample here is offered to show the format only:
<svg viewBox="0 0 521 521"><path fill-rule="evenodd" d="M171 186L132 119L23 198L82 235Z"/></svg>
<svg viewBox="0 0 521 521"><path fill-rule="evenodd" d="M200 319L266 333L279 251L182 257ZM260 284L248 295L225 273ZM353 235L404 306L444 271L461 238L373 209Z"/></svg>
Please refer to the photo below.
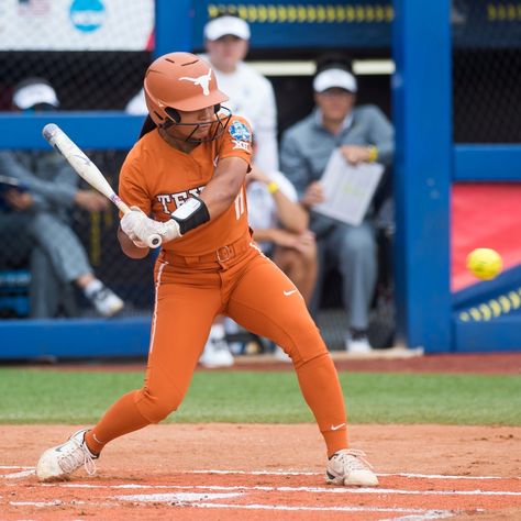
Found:
<svg viewBox="0 0 521 521"><path fill-rule="evenodd" d="M383 174L384 165L350 165L336 148L320 180L325 200L314 206L313 211L357 226L364 220Z"/></svg>

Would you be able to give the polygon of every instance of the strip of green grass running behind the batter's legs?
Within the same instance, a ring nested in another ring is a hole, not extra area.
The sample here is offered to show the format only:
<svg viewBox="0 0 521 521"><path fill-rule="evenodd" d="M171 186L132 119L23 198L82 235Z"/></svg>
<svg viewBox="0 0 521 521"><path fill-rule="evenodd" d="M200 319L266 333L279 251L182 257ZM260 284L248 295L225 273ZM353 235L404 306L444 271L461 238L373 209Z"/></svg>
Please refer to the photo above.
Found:
<svg viewBox="0 0 521 521"><path fill-rule="evenodd" d="M521 425L521 378L341 373L351 423ZM141 373L0 369L0 423L95 423ZM199 372L175 422L311 422L293 373Z"/></svg>

